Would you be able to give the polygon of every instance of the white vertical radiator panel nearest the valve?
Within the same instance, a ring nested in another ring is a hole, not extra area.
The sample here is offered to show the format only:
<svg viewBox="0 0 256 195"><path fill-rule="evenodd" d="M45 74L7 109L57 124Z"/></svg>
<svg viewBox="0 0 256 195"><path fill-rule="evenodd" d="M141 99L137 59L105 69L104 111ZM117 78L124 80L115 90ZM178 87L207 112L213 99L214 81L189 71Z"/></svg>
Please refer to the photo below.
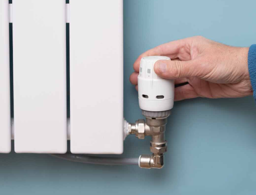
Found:
<svg viewBox="0 0 256 195"><path fill-rule="evenodd" d="M70 0L71 152L123 152L123 2Z"/></svg>

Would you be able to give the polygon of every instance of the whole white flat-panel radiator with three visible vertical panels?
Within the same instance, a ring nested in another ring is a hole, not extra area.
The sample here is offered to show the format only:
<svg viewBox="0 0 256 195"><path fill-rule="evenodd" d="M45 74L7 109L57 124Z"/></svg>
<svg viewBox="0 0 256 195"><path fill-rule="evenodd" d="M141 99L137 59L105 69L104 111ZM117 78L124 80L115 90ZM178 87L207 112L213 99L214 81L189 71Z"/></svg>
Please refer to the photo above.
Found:
<svg viewBox="0 0 256 195"><path fill-rule="evenodd" d="M11 151L9 22L13 26L14 150L123 152L123 1L0 2L0 153ZM106 128L107 127L107 128Z"/></svg>

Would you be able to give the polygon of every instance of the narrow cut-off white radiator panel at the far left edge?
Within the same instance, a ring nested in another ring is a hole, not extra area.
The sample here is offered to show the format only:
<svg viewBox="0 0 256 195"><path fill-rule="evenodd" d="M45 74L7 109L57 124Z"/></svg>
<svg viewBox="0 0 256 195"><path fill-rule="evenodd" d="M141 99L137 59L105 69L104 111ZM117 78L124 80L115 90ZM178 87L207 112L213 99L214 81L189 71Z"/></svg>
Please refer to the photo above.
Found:
<svg viewBox="0 0 256 195"><path fill-rule="evenodd" d="M9 4L0 1L0 153L11 151Z"/></svg>

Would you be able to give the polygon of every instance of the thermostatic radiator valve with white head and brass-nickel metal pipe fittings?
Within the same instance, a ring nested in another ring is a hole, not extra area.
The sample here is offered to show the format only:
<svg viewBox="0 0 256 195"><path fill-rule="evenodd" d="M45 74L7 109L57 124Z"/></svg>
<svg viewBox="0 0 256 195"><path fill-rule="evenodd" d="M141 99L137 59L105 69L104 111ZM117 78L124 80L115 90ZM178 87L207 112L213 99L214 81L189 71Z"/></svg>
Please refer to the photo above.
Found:
<svg viewBox="0 0 256 195"><path fill-rule="evenodd" d="M165 129L167 117L174 102L174 80L164 79L155 74L154 64L157 60L170 60L164 56L143 57L138 75L139 107L146 117L136 123L129 123L129 134L139 139L151 136L150 151L152 155L141 155L139 167L157 168L164 166L164 153L167 151Z"/></svg>

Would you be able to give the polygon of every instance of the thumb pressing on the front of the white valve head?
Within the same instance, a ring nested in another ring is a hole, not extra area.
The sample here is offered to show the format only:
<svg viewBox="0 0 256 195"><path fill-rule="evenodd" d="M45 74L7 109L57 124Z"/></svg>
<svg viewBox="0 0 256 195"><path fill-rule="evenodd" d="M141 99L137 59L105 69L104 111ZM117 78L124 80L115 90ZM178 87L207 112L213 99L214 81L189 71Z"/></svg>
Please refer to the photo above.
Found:
<svg viewBox="0 0 256 195"><path fill-rule="evenodd" d="M157 75L166 79L178 79L186 77L198 76L198 64L194 60L189 61L171 61L171 60L158 60L155 62L154 71Z"/></svg>

